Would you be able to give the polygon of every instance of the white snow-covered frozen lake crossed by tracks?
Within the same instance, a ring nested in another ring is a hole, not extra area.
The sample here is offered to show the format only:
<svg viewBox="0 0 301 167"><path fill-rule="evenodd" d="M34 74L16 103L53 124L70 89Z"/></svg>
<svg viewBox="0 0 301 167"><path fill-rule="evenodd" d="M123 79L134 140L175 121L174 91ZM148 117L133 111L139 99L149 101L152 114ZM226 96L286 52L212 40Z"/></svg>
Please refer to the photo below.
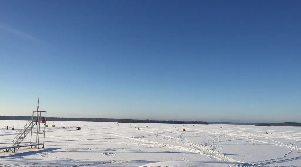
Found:
<svg viewBox="0 0 301 167"><path fill-rule="evenodd" d="M12 146L26 122L0 120L0 147ZM301 166L301 127L69 121L46 124L45 148L23 147L16 153L1 150L0 166ZM29 138L30 134L22 144L28 144Z"/></svg>

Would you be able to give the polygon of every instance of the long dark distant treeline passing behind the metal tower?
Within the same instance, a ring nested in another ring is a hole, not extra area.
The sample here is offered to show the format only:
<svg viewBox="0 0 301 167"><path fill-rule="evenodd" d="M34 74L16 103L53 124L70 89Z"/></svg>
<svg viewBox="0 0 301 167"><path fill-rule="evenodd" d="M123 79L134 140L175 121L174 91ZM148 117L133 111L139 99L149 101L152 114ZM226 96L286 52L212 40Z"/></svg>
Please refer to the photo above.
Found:
<svg viewBox="0 0 301 167"><path fill-rule="evenodd" d="M0 120L29 120L31 116L0 116ZM205 124L203 121L166 121L142 119L109 119L109 118L61 118L47 117L48 121L81 121L81 122L124 122L124 123L170 123L170 124Z"/></svg>

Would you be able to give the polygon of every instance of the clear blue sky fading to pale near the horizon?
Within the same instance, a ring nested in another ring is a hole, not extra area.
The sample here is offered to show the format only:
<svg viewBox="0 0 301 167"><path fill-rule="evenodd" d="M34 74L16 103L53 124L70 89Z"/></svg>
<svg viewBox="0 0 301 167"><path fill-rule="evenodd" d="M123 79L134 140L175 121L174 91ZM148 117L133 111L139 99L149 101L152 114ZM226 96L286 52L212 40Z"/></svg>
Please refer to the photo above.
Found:
<svg viewBox="0 0 301 167"><path fill-rule="evenodd" d="M300 1L4 1L0 115L300 122Z"/></svg>

